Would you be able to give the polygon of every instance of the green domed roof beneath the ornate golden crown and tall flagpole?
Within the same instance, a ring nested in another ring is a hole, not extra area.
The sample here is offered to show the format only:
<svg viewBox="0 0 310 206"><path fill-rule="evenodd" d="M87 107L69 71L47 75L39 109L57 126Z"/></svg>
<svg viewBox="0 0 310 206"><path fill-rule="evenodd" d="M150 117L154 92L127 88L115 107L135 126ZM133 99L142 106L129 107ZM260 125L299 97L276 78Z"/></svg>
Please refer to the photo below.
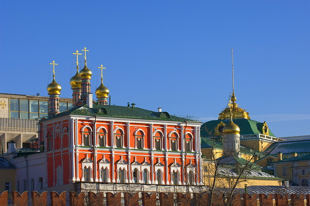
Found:
<svg viewBox="0 0 310 206"><path fill-rule="evenodd" d="M200 127L200 134L201 137L212 137L214 135L214 129L215 127L220 123L224 122L225 124L228 124L229 119L227 120L211 120L207 121L206 123L202 124ZM263 123L249 120L245 118L238 118L232 120L235 124L237 124L240 128L240 134L262 134L262 127ZM211 135L210 135L211 134ZM276 137L269 129L269 136Z"/></svg>

